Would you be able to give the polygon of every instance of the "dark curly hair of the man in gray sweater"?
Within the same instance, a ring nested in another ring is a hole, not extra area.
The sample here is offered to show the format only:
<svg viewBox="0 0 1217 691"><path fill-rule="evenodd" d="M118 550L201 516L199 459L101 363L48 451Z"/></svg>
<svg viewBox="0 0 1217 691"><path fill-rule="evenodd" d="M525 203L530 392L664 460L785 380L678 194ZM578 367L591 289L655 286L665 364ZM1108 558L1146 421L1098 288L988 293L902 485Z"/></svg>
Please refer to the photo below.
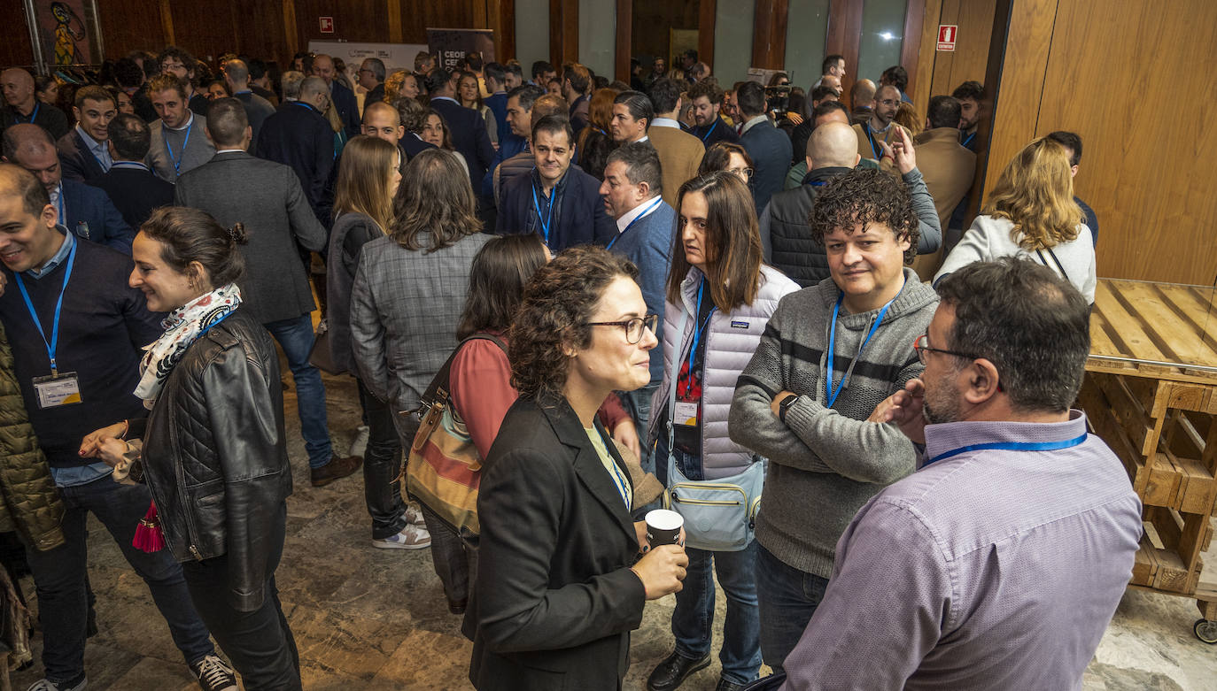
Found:
<svg viewBox="0 0 1217 691"><path fill-rule="evenodd" d="M916 257L920 231L909 191L902 180L875 168L854 168L820 187L807 223L812 240L820 247L824 236L839 227L853 232L854 226L865 230L868 225L881 223L892 229L896 240L909 241L904 251L905 264L912 264Z"/></svg>

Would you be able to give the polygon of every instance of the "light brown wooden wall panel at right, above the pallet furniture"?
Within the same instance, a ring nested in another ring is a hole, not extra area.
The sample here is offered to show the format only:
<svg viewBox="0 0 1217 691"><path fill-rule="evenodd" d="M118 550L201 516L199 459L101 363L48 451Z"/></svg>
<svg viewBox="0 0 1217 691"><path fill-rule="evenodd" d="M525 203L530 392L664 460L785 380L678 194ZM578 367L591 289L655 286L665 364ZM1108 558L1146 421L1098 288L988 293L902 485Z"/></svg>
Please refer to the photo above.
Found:
<svg viewBox="0 0 1217 691"><path fill-rule="evenodd" d="M1195 80L1179 99L1163 75L1217 64L1217 4L1112 0L1106 11L1118 21L1060 0L1034 135L1082 137L1075 185L1099 217L1100 276L1213 285L1217 129L1200 123L1212 122L1217 85Z"/></svg>

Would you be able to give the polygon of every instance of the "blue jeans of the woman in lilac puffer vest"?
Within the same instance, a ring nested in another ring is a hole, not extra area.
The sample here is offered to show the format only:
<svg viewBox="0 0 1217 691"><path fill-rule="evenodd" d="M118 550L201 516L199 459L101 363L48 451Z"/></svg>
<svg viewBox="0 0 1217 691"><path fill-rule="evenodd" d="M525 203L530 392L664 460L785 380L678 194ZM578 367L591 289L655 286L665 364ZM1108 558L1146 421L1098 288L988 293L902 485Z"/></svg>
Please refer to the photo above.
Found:
<svg viewBox="0 0 1217 691"><path fill-rule="evenodd" d="M655 445L657 464L662 467L664 487L669 487L668 437L660 434ZM701 479L701 459L677 449L677 468L689 479ZM677 592L677 608L672 613L672 634L677 653L700 658L710 652L714 620L714 573L727 595L727 618L723 622L723 648L718 659L723 679L746 684L761 669L761 612L757 607L756 540L738 552L711 552L685 547L689 568L684 588ZM712 571L713 567L713 571Z"/></svg>

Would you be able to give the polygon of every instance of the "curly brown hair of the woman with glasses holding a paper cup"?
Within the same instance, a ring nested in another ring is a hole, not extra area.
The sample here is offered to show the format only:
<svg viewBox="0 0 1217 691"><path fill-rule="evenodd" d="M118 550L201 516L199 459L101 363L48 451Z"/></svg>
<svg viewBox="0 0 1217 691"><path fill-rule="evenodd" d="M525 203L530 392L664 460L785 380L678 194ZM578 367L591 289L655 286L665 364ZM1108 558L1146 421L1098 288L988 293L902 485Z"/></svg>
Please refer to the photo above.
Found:
<svg viewBox="0 0 1217 691"><path fill-rule="evenodd" d="M533 274L507 331L511 386L521 398L561 400L570 369L568 348L591 344L591 319L618 276L638 280L638 266L590 245L572 247Z"/></svg>

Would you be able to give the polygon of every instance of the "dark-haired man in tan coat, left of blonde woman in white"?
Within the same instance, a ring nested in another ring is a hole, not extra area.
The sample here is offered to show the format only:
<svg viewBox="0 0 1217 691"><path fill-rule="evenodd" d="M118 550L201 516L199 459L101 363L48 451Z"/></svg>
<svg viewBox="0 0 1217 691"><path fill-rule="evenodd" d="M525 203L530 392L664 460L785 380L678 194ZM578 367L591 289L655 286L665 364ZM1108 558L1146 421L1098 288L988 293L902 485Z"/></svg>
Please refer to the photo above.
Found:
<svg viewBox="0 0 1217 691"><path fill-rule="evenodd" d="M959 101L952 96L930 99L925 131L913 140L918 168L933 197L938 223L943 229L950 213L972 186L976 155L959 144ZM933 254L918 257L913 269L922 281L930 280L942 264L942 247Z"/></svg>

